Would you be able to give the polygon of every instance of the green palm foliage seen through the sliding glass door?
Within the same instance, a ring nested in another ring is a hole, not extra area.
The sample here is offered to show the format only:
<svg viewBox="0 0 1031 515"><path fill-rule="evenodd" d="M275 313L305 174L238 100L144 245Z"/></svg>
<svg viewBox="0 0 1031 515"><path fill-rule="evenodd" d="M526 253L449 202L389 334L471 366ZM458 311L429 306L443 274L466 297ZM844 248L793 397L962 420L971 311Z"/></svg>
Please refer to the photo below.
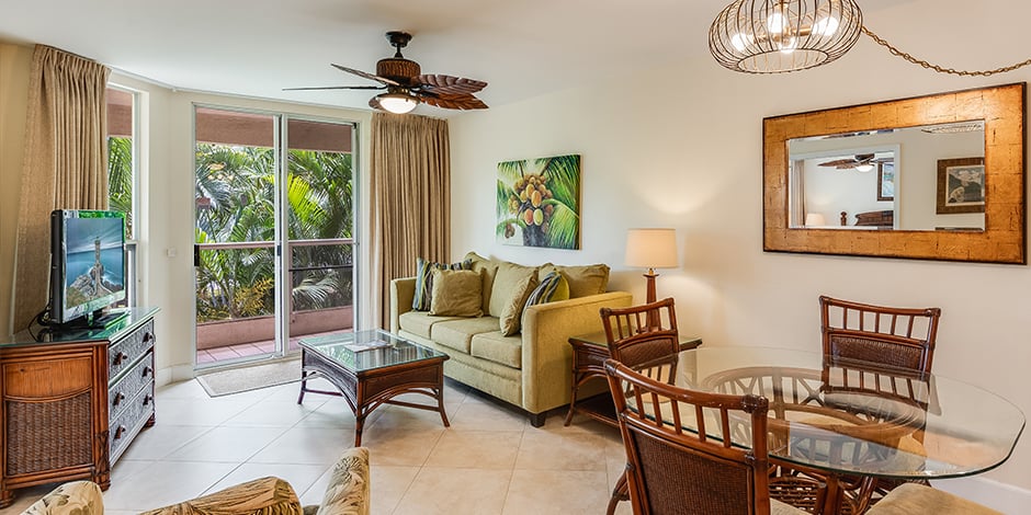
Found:
<svg viewBox="0 0 1031 515"><path fill-rule="evenodd" d="M197 144L196 242L275 239L275 154L272 149ZM291 241L350 238L351 154L290 150L286 231ZM294 310L348 306L352 299L350 245L292 245ZM204 250L197 267L197 320L274 311L271 247Z"/></svg>

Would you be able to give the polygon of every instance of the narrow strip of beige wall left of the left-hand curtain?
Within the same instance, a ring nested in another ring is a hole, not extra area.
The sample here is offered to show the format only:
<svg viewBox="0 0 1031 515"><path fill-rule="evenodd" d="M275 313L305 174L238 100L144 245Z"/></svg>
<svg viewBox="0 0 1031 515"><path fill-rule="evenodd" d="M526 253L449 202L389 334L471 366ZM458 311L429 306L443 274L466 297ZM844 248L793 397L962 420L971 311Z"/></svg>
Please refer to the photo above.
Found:
<svg viewBox="0 0 1031 515"><path fill-rule="evenodd" d="M32 48L0 42L0 337L11 334L18 192L25 154Z"/></svg>

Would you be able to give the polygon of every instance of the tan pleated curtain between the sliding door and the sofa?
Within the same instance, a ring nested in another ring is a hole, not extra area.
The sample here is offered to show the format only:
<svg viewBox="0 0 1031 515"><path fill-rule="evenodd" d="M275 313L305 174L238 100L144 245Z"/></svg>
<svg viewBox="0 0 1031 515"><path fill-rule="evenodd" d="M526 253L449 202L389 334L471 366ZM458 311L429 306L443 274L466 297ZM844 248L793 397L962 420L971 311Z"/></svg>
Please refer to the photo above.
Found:
<svg viewBox="0 0 1031 515"><path fill-rule="evenodd" d="M372 117L372 282L381 327L389 328L390 279L416 273L416 258L451 259L447 122Z"/></svg>

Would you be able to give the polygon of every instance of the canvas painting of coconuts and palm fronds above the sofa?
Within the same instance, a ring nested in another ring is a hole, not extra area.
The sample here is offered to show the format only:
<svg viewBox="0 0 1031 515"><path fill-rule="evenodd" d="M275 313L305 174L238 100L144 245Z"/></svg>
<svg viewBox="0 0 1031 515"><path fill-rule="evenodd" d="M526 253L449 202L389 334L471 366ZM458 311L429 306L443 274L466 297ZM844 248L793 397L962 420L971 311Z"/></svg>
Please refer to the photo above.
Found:
<svg viewBox="0 0 1031 515"><path fill-rule="evenodd" d="M499 242L580 248L580 156L500 162L496 196Z"/></svg>

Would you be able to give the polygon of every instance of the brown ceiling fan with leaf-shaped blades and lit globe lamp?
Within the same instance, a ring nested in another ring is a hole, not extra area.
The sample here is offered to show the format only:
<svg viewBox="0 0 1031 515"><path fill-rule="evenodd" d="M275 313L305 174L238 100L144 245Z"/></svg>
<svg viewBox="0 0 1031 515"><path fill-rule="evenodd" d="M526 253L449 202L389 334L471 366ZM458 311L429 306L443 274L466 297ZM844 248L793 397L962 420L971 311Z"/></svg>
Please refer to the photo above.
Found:
<svg viewBox="0 0 1031 515"><path fill-rule="evenodd" d="M404 114L420 102L445 110L485 110L487 104L473 93L484 89L487 83L479 80L452 77L440 73L422 75L419 64L406 59L401 48L411 41L411 34L400 31L386 33L387 41L397 49L394 57L376 62L376 75L331 64L338 70L374 80L379 85L327 85L316 88L284 88L283 91L298 90L386 90L369 101L376 110Z"/></svg>

